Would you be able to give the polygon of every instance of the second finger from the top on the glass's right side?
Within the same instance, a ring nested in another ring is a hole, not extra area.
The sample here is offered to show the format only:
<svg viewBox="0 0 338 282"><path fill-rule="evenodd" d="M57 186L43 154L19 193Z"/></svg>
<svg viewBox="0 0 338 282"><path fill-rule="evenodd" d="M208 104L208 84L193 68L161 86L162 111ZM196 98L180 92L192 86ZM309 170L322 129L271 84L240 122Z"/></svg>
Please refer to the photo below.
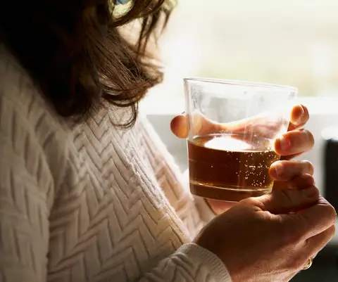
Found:
<svg viewBox="0 0 338 282"><path fill-rule="evenodd" d="M275 151L278 155L296 155L313 148L315 140L306 129L296 129L287 132L275 141Z"/></svg>

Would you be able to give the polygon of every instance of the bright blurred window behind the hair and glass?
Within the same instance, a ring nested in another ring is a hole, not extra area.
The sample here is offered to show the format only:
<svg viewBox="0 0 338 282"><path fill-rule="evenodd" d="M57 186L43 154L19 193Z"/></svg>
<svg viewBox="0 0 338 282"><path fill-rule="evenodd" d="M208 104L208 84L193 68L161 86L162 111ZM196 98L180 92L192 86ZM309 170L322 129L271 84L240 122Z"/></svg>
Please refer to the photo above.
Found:
<svg viewBox="0 0 338 282"><path fill-rule="evenodd" d="M147 99L183 105L187 76L338 96L337 11L337 0L179 0L160 44L165 81Z"/></svg>

